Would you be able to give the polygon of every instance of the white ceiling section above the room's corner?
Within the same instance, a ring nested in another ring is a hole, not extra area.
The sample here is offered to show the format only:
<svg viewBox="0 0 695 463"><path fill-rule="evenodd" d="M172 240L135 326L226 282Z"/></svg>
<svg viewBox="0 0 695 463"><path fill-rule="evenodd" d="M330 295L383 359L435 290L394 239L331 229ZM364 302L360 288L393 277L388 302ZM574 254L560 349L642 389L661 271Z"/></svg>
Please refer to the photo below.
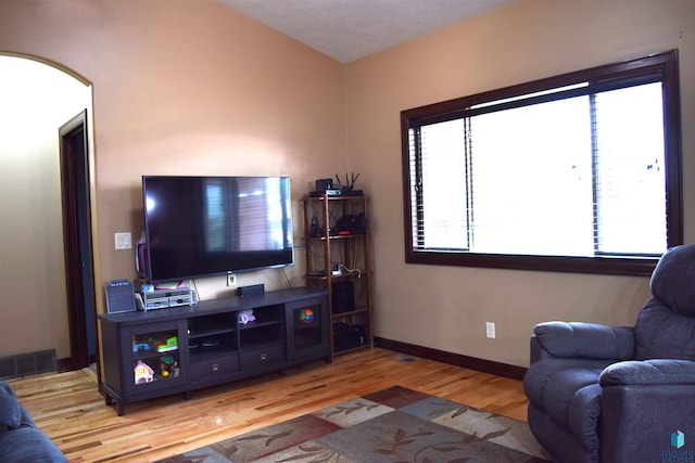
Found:
<svg viewBox="0 0 695 463"><path fill-rule="evenodd" d="M219 0L349 63L517 0Z"/></svg>

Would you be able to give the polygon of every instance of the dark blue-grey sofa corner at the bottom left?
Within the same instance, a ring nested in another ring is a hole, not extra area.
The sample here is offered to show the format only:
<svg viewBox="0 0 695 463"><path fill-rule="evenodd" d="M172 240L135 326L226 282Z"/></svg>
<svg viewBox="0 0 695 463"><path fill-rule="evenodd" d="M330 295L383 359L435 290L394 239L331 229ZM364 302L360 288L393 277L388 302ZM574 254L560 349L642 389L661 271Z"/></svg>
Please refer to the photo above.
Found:
<svg viewBox="0 0 695 463"><path fill-rule="evenodd" d="M14 390L0 382L0 462L48 463L67 460L20 404Z"/></svg>

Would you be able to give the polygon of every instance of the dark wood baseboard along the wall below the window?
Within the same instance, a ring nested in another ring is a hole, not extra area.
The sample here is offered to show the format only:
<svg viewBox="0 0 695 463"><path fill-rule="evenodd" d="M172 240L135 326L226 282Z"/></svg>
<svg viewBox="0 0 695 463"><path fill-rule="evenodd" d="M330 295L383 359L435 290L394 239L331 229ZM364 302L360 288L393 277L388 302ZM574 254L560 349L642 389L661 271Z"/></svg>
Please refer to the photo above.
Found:
<svg viewBox="0 0 695 463"><path fill-rule="evenodd" d="M447 352L444 350L432 349L429 347L416 346L414 344L401 343L400 340L386 339L383 337L374 338L376 347L393 350L400 353L421 357L428 360L447 363L451 365L463 366L470 370L490 373L497 376L509 377L511 380L523 380L527 369L523 366L509 365L506 363L494 362L492 360L478 359L475 357L463 356L460 353Z"/></svg>

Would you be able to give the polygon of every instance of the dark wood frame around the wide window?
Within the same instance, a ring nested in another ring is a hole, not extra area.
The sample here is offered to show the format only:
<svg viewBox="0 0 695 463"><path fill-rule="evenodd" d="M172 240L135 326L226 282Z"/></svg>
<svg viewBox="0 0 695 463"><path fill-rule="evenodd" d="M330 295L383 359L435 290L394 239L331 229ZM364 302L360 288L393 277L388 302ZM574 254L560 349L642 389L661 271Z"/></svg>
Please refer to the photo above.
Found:
<svg viewBox="0 0 695 463"><path fill-rule="evenodd" d="M649 275L658 261L658 256L534 256L508 254L478 254L471 252L431 252L417 248L414 244L414 223L410 195L410 150L409 130L422 120L445 120L453 114L462 113L485 102L500 101L548 89L580 82L609 82L630 76L660 73L664 82L664 137L667 187L668 247L683 243L683 200L681 187L681 121L678 51L621 63L597 66L574 73L544 78L498 90L482 92L441 103L434 103L401 113L401 144L403 168L403 206L405 233L405 260L407 263L445 265L463 267L484 267L517 270L555 272L604 273L626 275Z"/></svg>

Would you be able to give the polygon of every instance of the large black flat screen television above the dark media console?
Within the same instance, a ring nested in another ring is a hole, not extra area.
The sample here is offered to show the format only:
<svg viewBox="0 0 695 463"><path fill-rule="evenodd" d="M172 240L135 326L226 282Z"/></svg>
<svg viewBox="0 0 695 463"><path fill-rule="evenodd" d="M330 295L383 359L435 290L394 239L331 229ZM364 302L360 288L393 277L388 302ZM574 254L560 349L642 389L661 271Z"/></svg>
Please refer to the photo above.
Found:
<svg viewBox="0 0 695 463"><path fill-rule="evenodd" d="M294 263L288 177L143 176L151 283Z"/></svg>

